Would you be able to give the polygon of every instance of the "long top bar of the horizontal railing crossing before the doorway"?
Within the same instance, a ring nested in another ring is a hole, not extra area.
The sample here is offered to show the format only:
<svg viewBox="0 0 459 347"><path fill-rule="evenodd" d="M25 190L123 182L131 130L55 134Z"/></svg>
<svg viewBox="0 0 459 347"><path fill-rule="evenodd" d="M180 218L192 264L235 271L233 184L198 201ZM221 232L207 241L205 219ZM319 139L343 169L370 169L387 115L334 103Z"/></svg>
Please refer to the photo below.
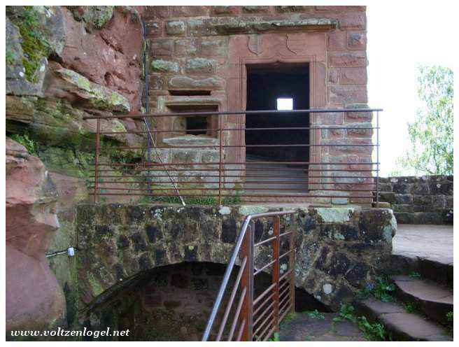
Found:
<svg viewBox="0 0 459 347"><path fill-rule="evenodd" d="M203 112L171 112L171 113L134 113L132 115L110 115L110 116L86 116L83 117L83 120L91 119L113 119L113 118L159 118L159 117L183 117L188 115L268 115L276 113L350 113L350 112L379 112L383 111L382 108L304 108L301 110L255 110L255 111L203 111Z"/></svg>

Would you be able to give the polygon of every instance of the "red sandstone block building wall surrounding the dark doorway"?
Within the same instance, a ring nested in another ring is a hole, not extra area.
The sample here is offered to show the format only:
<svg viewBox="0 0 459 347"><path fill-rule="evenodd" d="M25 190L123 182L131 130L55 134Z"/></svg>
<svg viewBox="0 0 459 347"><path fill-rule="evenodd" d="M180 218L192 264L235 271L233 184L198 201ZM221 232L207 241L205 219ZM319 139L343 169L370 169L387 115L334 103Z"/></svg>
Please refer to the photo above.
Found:
<svg viewBox="0 0 459 347"><path fill-rule="evenodd" d="M244 109L245 75L241 72L245 69L244 62L269 61L272 57L288 62L313 61L312 108L355 108L367 104L365 6L147 6L143 18L150 55L152 111L170 112L177 104L188 104L190 110L197 105L217 106L220 111ZM185 91L189 95L174 95ZM193 91L208 92L210 96L193 96ZM175 121L162 118L157 127L173 129ZM227 127L238 127L243 120L230 116L224 122ZM312 124L371 127L372 117L368 113L331 113L317 116ZM315 143L367 144L371 142L372 131L330 129L311 137ZM225 134L228 145L240 145L243 141L243 134ZM323 148L313 151L311 161L371 162L371 151L371 147ZM243 150L235 148L225 159L237 161L243 155ZM323 167L344 168L371 167L358 164ZM352 183L372 182L371 178L358 177L369 176L368 171L327 173L334 183L328 188L357 189L362 185ZM357 194L366 193L344 193ZM344 197L331 202L369 204L371 201L369 195L369 199Z"/></svg>

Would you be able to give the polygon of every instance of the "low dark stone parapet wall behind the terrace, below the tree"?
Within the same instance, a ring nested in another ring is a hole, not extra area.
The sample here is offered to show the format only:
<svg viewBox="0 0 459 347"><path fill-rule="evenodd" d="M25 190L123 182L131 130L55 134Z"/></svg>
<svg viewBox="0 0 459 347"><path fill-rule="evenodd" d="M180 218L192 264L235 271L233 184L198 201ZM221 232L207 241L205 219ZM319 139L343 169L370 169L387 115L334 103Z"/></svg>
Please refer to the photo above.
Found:
<svg viewBox="0 0 459 347"><path fill-rule="evenodd" d="M453 176L380 178L379 189L399 223L453 224Z"/></svg>

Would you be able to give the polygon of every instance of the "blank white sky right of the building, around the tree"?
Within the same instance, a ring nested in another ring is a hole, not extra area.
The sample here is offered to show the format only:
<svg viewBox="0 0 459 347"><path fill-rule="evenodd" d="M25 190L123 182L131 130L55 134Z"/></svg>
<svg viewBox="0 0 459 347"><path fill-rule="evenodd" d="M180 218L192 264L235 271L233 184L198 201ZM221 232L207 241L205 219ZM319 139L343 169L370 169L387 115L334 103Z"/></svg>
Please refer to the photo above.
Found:
<svg viewBox="0 0 459 347"><path fill-rule="evenodd" d="M416 113L416 66L453 68L459 32L455 1L372 2L367 8L369 106L383 108L381 176L409 147L407 122ZM455 37L456 36L456 37Z"/></svg>

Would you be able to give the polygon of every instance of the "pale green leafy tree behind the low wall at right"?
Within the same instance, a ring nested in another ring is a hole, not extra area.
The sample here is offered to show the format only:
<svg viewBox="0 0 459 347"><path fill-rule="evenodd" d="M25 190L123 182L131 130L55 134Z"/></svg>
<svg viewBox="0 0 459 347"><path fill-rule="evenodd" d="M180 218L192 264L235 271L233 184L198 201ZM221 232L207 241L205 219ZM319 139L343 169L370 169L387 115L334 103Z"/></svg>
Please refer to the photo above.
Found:
<svg viewBox="0 0 459 347"><path fill-rule="evenodd" d="M397 171L453 174L453 71L419 66L418 97L422 106L408 123L411 148L397 160Z"/></svg>

